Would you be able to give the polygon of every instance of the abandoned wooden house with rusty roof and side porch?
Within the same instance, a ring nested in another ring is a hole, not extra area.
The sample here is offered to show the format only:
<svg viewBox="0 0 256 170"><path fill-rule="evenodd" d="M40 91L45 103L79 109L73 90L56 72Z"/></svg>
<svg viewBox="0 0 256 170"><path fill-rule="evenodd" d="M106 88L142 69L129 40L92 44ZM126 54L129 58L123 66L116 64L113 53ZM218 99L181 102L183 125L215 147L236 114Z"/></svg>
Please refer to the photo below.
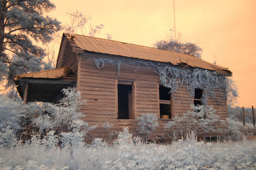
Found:
<svg viewBox="0 0 256 170"><path fill-rule="evenodd" d="M169 133L164 131L166 122L188 111L191 104L202 104L207 89L202 88L200 82L189 86L189 81L183 82L182 76L175 78L176 73L172 74L183 71L182 75L186 76L193 69L206 70L207 74L214 73L221 78L232 74L227 68L191 55L63 34L56 69L20 74L14 80L25 102L56 103L61 99L61 89L76 87L87 101L81 106L84 120L91 125L99 125L93 130L93 137L108 136L102 127L106 122L113 124L113 131L129 127L136 134L135 118L145 113L158 116L156 135L164 136ZM213 106L216 115L224 120L227 118L225 87L208 89L208 93L212 92L214 96L208 96L207 104Z"/></svg>

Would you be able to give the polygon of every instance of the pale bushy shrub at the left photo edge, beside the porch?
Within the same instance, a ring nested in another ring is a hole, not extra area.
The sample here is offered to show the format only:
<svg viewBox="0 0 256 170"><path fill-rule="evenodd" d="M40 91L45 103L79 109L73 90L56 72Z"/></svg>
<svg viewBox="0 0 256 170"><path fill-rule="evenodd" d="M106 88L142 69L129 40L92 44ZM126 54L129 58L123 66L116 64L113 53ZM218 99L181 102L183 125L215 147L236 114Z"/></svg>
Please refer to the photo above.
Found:
<svg viewBox="0 0 256 170"><path fill-rule="evenodd" d="M31 124L33 115L42 113L44 108L44 105L37 103L25 104L19 98L10 99L3 95L0 95L0 103L0 138L3 139L1 141L2 146L9 146L12 145L13 141L19 141L22 134L24 134L26 124Z"/></svg>

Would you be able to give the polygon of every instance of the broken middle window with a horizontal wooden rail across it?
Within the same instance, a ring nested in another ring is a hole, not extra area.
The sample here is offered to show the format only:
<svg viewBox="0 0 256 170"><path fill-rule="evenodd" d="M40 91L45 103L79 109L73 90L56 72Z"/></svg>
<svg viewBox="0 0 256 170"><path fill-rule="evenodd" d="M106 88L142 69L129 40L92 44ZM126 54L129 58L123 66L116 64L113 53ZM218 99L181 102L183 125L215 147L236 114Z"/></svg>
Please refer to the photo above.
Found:
<svg viewBox="0 0 256 170"><path fill-rule="evenodd" d="M172 97L170 89L159 85L160 118L172 118Z"/></svg>

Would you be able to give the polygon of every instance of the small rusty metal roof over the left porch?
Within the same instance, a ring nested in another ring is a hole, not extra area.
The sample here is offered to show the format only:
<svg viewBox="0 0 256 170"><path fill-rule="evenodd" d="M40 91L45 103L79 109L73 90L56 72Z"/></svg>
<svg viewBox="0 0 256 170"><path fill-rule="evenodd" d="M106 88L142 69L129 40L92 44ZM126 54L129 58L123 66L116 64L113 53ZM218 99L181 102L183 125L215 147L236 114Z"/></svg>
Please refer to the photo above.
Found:
<svg viewBox="0 0 256 170"><path fill-rule="evenodd" d="M38 71L35 73L26 73L26 74L19 74L15 75L13 80L17 81L22 78L64 78L68 76L69 74L72 74L72 71L67 67L60 67L58 69L50 69L45 71Z"/></svg>

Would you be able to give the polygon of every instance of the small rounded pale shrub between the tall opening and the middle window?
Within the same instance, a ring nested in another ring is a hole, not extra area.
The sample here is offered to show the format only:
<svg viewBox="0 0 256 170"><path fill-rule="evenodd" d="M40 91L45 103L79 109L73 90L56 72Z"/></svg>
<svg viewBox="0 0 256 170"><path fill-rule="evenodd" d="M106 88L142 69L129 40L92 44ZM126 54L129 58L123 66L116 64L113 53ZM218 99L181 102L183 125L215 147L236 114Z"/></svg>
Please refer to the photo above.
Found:
<svg viewBox="0 0 256 170"><path fill-rule="evenodd" d="M149 136L156 131L158 126L157 116L153 113L141 114L140 117L137 117L138 120L138 134L143 136L143 139L147 140Z"/></svg>

